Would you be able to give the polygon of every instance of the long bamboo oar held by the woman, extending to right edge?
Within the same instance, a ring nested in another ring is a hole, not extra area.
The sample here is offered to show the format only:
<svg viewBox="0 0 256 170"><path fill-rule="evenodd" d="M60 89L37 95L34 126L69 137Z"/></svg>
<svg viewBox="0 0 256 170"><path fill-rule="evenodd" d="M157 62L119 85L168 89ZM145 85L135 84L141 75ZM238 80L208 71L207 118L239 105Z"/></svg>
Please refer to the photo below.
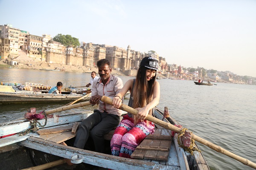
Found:
<svg viewBox="0 0 256 170"><path fill-rule="evenodd" d="M108 103L109 105L112 105L112 99L110 99L109 97L106 97L106 96L102 96L102 99L101 99L102 102L105 102L105 103ZM121 106L119 107L119 109L121 109L122 111L127 111L133 115L137 115L138 111L135 110L134 108L131 108L129 107L128 105L125 105L125 104L121 104ZM150 121L150 122L153 122L157 125L160 125L162 127L165 127L166 129L169 129L169 130L173 130L177 133L179 133L181 130L179 127L176 127L170 123L167 123L167 122L164 122L160 119L157 119L151 115L148 115L146 117L146 120ZM230 151L228 150L225 150L224 148L216 145L216 144L213 144L205 139L202 139L201 137L199 136L196 136L194 133L191 133L191 137L192 139L194 139L195 141L197 142L200 142L201 144L204 144L210 148L212 148L213 150L219 152L219 153L223 153L224 155L227 155L229 156L230 158L233 158L233 159L236 159L237 161L240 161L241 163L245 164L245 165L248 165L249 167L253 167L254 169L256 169L256 164L253 163L252 161L249 161L248 159L245 159L245 158L242 158L241 156L238 156L234 153L231 153Z"/></svg>

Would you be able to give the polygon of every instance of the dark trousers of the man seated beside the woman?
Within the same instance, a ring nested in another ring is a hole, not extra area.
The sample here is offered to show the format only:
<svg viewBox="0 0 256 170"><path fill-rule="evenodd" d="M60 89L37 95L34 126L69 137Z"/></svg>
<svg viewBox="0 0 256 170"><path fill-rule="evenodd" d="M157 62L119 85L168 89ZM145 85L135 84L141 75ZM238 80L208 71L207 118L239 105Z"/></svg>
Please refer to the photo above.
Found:
<svg viewBox="0 0 256 170"><path fill-rule="evenodd" d="M84 145L89 137L89 131L91 131L96 152L104 153L104 135L116 127L119 124L119 120L120 118L117 115L106 112L101 113L98 110L94 110L93 114L80 123L76 133L74 147L84 149Z"/></svg>

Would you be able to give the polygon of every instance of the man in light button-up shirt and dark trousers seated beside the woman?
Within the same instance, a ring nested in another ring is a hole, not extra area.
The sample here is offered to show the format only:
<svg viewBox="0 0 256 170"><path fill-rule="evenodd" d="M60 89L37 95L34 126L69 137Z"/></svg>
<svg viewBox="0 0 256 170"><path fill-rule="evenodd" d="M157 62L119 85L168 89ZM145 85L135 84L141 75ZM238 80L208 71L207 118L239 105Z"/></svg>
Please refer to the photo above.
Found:
<svg viewBox="0 0 256 170"><path fill-rule="evenodd" d="M112 68L108 59L99 60L97 67L100 79L93 82L90 103L99 104L99 109L95 109L93 114L80 123L74 147L84 149L91 130L96 152L104 153L104 135L119 124L122 111L100 101L100 99L102 96L112 99L122 89L123 82L119 77L111 74Z"/></svg>

